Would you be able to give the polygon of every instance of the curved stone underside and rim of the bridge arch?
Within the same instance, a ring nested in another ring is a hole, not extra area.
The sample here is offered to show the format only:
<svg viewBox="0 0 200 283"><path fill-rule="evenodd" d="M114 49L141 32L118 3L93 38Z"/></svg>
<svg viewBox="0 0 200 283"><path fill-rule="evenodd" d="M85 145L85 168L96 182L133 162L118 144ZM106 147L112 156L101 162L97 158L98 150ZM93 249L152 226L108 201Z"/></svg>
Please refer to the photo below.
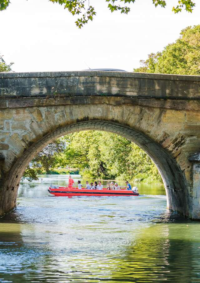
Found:
<svg viewBox="0 0 200 283"><path fill-rule="evenodd" d="M187 182L173 156L167 150L163 149L161 145L138 130L116 122L103 120L81 121L68 124L64 127L59 127L30 145L23 155L17 159L7 176L4 189L7 190L8 193L5 195L4 204L9 204L8 207L14 207L18 185L23 172L29 162L43 147L63 135L83 130L112 132L119 134L140 146L151 157L163 178L167 193L168 208L178 211L182 215L189 216L190 201ZM4 210L8 211L6 206L4 207Z"/></svg>

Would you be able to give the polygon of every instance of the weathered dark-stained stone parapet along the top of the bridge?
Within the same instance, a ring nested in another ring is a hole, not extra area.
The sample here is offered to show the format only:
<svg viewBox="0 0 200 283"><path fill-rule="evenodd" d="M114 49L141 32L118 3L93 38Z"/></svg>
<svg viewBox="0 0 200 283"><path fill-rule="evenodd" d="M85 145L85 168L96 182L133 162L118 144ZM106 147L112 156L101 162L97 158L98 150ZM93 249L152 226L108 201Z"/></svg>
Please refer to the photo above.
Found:
<svg viewBox="0 0 200 283"><path fill-rule="evenodd" d="M2 98L56 95L200 99L200 76L107 71L0 74Z"/></svg>

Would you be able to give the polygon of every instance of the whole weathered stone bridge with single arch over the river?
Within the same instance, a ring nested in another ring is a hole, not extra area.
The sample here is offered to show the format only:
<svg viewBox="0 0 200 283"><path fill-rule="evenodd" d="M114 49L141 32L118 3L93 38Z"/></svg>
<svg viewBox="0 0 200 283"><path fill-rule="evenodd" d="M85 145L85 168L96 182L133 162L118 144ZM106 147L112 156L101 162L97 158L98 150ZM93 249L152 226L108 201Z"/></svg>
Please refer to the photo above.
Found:
<svg viewBox="0 0 200 283"><path fill-rule="evenodd" d="M200 219L200 77L103 71L0 73L0 215L44 146L89 129L138 144L158 167L168 208Z"/></svg>

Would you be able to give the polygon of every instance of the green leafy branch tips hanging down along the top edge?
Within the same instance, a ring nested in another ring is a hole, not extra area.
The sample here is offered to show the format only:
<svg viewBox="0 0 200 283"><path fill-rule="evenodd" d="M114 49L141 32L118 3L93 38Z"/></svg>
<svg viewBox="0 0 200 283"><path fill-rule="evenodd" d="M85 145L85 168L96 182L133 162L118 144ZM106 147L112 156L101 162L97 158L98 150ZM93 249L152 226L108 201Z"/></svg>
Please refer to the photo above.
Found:
<svg viewBox="0 0 200 283"><path fill-rule="evenodd" d="M73 16L78 16L75 22L78 28L82 28L88 21L92 21L96 15L95 7L90 5L89 0L49 0L52 3L58 3L67 9ZM130 12L130 5L136 0L105 0L108 3L108 9L113 13L120 11L120 13L128 14ZM142 0L140 0L142 1ZM166 7L167 1L153 0L155 7ZM9 0L0 0L0 11L5 10L10 4ZM192 0L178 0L177 5L172 7L174 13L179 13L182 9L192 13L195 3ZM80 17L79 17L80 14Z"/></svg>

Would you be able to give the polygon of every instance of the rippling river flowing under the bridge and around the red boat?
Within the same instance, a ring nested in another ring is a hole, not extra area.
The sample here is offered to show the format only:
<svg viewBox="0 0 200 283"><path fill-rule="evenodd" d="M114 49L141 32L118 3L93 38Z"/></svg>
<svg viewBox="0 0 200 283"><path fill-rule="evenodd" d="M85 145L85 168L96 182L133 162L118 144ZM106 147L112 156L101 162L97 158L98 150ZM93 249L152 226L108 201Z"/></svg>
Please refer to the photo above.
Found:
<svg viewBox="0 0 200 283"><path fill-rule="evenodd" d="M163 186L68 198L47 191L67 175L40 178L0 219L0 282L200 282L200 224L166 209Z"/></svg>

